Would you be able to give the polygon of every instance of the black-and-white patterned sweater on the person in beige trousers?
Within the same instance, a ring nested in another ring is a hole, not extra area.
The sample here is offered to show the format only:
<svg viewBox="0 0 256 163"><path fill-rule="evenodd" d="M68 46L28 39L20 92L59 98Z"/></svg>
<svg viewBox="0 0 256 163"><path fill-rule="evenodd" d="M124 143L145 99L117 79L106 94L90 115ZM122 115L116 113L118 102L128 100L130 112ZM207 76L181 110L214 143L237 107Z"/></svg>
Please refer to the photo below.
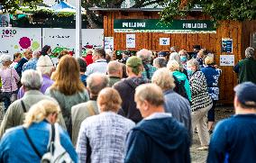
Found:
<svg viewBox="0 0 256 163"><path fill-rule="evenodd" d="M190 78L190 90L192 94L191 111L206 108L212 104L212 99L208 95L206 77L202 71L196 71Z"/></svg>

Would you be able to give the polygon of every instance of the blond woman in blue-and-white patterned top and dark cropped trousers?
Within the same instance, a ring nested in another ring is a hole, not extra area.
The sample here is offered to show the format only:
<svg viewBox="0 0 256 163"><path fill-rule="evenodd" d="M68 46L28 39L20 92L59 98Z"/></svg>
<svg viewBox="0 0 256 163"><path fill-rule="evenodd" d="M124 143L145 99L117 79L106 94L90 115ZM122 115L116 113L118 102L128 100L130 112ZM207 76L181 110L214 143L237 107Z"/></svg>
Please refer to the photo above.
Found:
<svg viewBox="0 0 256 163"><path fill-rule="evenodd" d="M213 107L208 112L208 130L210 133L213 131L213 124L215 122L215 104L219 100L219 77L221 76L222 70L215 68L215 59L207 56L205 59L206 67L202 68L202 72L206 76L206 82L208 87L208 94L213 100Z"/></svg>

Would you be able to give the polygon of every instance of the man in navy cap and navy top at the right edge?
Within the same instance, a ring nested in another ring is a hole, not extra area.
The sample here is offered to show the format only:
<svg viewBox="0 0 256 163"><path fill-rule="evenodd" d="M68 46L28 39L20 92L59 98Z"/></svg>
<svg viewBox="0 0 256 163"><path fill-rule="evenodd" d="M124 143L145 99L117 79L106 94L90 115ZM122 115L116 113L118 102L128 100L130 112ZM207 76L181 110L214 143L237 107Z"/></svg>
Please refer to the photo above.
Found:
<svg viewBox="0 0 256 163"><path fill-rule="evenodd" d="M235 115L218 122L207 162L247 162L256 160L256 85L244 82L234 87Z"/></svg>

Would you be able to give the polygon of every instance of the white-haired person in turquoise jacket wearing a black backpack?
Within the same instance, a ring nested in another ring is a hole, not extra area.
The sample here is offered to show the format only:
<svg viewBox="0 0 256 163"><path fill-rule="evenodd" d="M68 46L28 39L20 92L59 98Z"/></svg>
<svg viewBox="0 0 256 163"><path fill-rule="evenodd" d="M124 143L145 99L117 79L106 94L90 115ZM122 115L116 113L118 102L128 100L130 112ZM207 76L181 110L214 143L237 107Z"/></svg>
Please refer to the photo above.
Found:
<svg viewBox="0 0 256 163"><path fill-rule="evenodd" d="M167 64L167 68L169 71L172 72L172 76L175 80L175 87L174 91L177 92L179 95L187 98L189 102L191 102L191 91L189 82L187 80L187 76L179 71L179 64L176 60L169 60Z"/></svg>

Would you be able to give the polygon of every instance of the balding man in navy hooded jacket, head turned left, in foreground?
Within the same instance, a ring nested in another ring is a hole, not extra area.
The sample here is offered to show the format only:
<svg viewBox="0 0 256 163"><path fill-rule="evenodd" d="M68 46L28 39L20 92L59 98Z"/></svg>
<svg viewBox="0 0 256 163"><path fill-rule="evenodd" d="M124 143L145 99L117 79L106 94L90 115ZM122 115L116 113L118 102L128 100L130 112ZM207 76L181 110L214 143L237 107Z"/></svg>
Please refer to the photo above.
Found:
<svg viewBox="0 0 256 163"><path fill-rule="evenodd" d="M144 120L128 135L124 162L190 162L187 129L165 113L160 86L136 87L135 102Z"/></svg>

